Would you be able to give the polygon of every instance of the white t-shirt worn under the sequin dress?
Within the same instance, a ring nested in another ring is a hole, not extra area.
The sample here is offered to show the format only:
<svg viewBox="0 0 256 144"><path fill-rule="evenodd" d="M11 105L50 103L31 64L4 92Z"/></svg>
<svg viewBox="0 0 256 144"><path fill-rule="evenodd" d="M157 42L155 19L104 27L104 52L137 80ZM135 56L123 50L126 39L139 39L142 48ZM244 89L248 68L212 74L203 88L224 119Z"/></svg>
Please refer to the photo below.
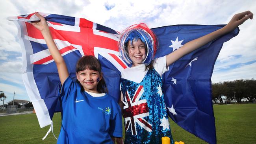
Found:
<svg viewBox="0 0 256 144"><path fill-rule="evenodd" d="M166 55L154 59L154 69L162 76L166 71L169 70L169 66L166 67ZM128 67L121 71L121 78L140 83L146 76L148 69L145 70L146 65L141 64L134 67Z"/></svg>

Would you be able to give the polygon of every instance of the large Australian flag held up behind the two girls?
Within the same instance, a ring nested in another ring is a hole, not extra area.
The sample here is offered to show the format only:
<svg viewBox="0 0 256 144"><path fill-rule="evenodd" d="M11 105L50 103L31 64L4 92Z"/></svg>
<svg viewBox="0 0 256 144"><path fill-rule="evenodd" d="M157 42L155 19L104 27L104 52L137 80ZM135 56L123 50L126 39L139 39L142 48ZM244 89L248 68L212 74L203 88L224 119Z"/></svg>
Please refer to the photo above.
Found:
<svg viewBox="0 0 256 144"><path fill-rule="evenodd" d="M84 18L40 13L45 17L59 52L76 79L76 61L94 55L102 64L104 79L116 100L120 98L120 71L127 67L119 57L118 32ZM34 14L9 17L18 28L22 47L22 78L33 103L40 127L51 124L54 112L61 111L58 98L58 71L40 31L32 21ZM153 28L159 40L156 57L167 55L183 44L224 25L176 25ZM211 99L211 75L223 42L236 36L232 31L185 55L163 75L163 92L169 116L179 126L208 143L216 143L215 118Z"/></svg>

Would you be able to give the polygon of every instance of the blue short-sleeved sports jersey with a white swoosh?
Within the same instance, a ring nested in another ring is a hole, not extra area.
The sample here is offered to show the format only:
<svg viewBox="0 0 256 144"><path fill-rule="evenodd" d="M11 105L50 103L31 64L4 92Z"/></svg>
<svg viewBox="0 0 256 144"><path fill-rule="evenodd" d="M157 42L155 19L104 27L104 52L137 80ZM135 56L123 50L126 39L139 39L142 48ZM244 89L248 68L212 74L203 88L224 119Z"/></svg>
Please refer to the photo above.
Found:
<svg viewBox="0 0 256 144"><path fill-rule="evenodd" d="M63 116L57 144L113 144L111 137L122 137L121 109L112 96L93 97L70 77L59 96Z"/></svg>

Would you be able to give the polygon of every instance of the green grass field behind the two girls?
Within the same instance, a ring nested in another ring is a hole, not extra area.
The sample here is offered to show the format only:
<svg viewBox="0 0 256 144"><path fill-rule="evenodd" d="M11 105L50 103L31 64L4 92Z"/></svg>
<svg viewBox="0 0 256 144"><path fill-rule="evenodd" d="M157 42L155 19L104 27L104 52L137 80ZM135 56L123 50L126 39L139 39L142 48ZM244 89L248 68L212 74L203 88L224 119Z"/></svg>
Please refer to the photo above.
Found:
<svg viewBox="0 0 256 144"><path fill-rule="evenodd" d="M218 144L256 144L256 104L213 105ZM54 134L59 135L60 113L54 114ZM170 120L175 141L185 144L206 144ZM35 114L0 116L0 144L54 144L50 126L40 128Z"/></svg>

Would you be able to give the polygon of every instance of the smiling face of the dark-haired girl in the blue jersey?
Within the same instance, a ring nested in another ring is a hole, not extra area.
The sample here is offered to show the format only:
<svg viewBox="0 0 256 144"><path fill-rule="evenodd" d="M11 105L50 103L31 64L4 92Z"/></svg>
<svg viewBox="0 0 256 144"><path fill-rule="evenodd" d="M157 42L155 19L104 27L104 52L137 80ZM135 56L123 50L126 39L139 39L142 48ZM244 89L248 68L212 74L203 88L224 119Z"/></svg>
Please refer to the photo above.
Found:
<svg viewBox="0 0 256 144"><path fill-rule="evenodd" d="M83 70L76 73L76 78L88 92L98 93L97 85L102 79L102 75L95 70Z"/></svg>

